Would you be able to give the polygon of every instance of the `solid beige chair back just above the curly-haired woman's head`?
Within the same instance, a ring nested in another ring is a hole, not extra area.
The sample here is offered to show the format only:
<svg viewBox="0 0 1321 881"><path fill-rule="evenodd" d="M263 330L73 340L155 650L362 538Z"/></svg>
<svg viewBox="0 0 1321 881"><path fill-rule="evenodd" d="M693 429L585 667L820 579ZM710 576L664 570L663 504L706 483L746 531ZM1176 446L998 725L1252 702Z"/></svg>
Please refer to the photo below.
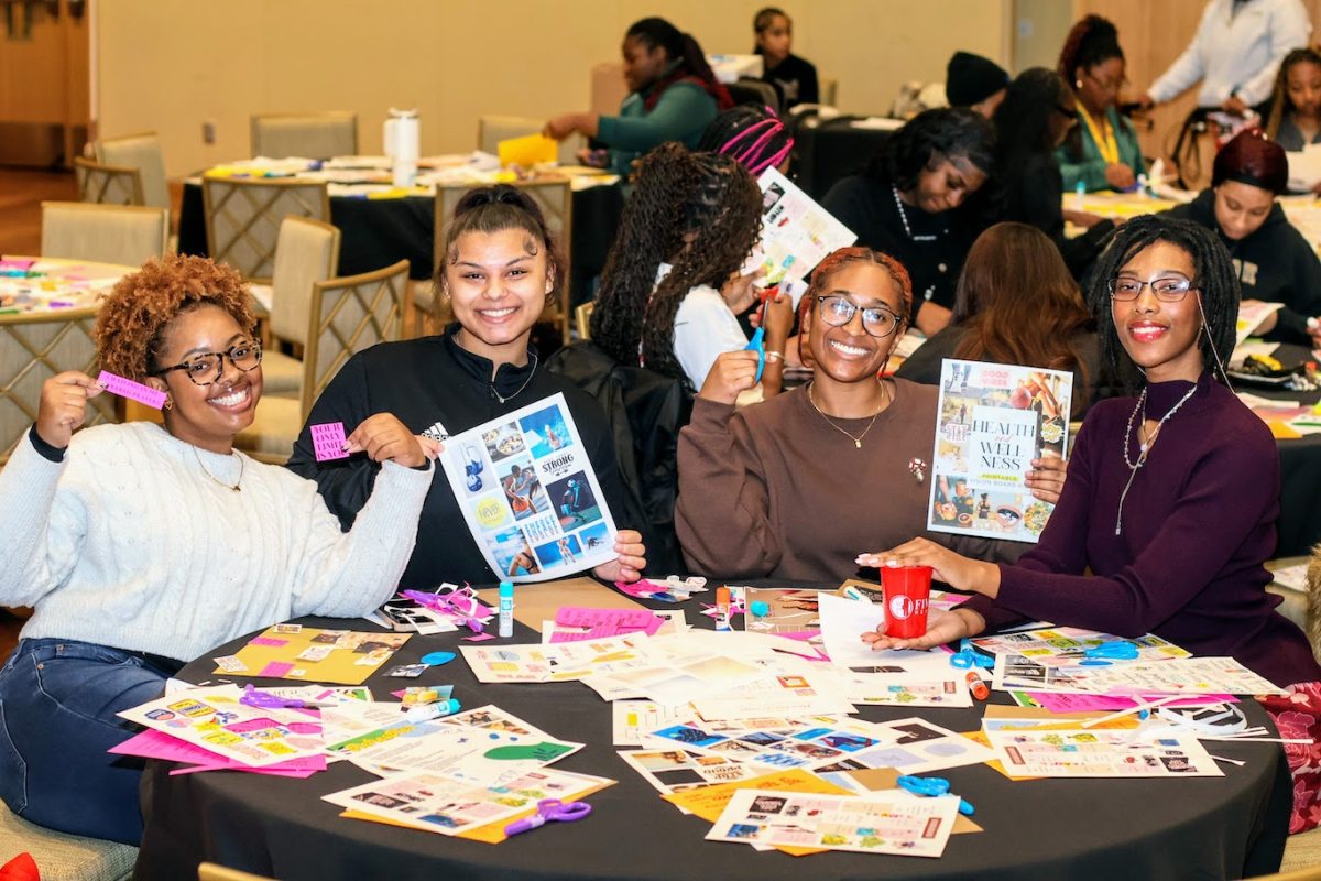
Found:
<svg viewBox="0 0 1321 881"><path fill-rule="evenodd" d="M169 217L141 205L41 203L41 256L141 265L165 254Z"/></svg>

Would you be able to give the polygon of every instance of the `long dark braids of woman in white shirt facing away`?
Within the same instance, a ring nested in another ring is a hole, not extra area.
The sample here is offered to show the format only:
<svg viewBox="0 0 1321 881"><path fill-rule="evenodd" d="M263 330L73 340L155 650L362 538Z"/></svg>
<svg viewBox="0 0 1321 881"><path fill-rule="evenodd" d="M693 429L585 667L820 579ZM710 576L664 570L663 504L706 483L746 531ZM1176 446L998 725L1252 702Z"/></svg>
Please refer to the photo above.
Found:
<svg viewBox="0 0 1321 881"><path fill-rule="evenodd" d="M720 288L761 234L761 190L728 156L662 144L643 157L592 313L592 341L620 363L683 378L674 317L688 291ZM657 267L674 260L657 284Z"/></svg>

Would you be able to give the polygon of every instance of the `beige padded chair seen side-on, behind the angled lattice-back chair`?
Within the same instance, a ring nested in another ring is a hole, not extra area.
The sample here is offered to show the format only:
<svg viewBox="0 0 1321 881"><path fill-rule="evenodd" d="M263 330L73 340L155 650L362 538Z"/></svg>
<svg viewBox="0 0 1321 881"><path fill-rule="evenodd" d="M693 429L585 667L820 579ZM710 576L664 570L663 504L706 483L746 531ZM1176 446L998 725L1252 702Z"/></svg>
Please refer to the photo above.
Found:
<svg viewBox="0 0 1321 881"><path fill-rule="evenodd" d="M303 351L308 345L312 285L333 279L339 265L339 230L304 217L285 217L275 248L271 285L252 285L268 310L269 341L262 357L264 394L297 398L303 388ZM279 349L288 345L292 355Z"/></svg>

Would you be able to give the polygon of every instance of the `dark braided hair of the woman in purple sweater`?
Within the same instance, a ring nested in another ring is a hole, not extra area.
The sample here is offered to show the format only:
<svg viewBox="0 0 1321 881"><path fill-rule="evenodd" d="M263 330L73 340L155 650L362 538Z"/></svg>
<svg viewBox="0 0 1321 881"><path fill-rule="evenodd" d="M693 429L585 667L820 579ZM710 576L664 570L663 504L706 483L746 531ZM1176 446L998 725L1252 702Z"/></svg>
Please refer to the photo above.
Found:
<svg viewBox="0 0 1321 881"><path fill-rule="evenodd" d="M1230 252L1219 236L1205 226L1165 214L1135 217L1115 231L1110 244L1096 259L1087 288L1087 305L1096 320L1100 335L1102 359L1128 390L1136 390L1141 384L1141 376L1119 342L1115 316L1111 312L1110 281L1140 251L1156 242L1169 242L1193 259L1193 284L1199 291L1202 316L1206 320L1202 333L1197 337L1202 363L1219 371L1223 359L1234 350L1242 295Z"/></svg>

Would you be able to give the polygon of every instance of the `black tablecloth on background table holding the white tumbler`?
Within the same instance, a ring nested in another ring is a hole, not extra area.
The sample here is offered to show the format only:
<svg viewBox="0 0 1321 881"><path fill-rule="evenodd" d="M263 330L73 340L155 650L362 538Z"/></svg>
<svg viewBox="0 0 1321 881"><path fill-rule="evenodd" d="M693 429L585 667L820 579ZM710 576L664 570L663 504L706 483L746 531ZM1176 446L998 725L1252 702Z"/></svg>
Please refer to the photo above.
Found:
<svg viewBox="0 0 1321 881"><path fill-rule="evenodd" d="M573 193L573 240L569 243L573 302L589 299L588 284L601 273L624 211L618 185ZM339 227L339 275L358 275L407 259L408 276L429 279L436 236L436 201L431 197L366 199L330 198L330 222ZM178 211L180 254L207 256L202 188L184 185Z"/></svg>

